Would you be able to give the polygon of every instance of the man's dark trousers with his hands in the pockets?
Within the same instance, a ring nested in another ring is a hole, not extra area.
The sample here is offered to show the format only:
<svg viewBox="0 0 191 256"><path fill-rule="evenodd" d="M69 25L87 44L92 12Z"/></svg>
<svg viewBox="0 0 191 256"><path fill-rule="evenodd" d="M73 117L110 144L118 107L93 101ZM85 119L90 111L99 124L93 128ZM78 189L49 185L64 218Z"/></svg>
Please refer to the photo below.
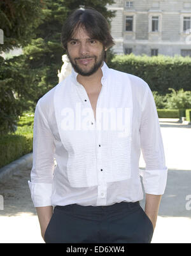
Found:
<svg viewBox="0 0 191 256"><path fill-rule="evenodd" d="M55 206L46 243L150 243L153 225L139 202Z"/></svg>

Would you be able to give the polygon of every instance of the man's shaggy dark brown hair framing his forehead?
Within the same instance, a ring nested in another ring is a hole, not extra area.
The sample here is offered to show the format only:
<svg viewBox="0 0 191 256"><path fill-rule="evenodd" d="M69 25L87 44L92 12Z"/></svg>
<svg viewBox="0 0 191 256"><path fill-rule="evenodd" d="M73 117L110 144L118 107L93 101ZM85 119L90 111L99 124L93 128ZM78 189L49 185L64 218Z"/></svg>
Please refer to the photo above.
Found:
<svg viewBox="0 0 191 256"><path fill-rule="evenodd" d="M73 11L62 26L61 42L67 50L67 42L71 40L79 27L85 28L88 36L103 43L108 49L115 45L110 34L110 27L107 20L99 11L93 8L78 9Z"/></svg>

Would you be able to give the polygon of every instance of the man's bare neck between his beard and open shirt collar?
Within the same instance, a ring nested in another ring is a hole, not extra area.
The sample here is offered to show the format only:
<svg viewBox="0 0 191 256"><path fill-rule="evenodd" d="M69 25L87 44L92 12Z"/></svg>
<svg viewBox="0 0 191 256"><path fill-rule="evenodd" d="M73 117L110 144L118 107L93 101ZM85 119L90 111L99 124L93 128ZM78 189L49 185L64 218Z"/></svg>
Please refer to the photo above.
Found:
<svg viewBox="0 0 191 256"><path fill-rule="evenodd" d="M84 77L82 75L77 75L77 81L85 87L87 93L94 93L95 91L99 91L101 87L101 78L103 77L103 72L101 68L97 70L94 74Z"/></svg>

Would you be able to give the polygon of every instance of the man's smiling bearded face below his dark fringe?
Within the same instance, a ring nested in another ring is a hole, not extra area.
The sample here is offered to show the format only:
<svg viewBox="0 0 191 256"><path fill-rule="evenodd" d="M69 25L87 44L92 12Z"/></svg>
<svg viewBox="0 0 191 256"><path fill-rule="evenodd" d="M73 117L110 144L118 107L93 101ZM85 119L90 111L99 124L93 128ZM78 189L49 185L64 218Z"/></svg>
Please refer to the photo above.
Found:
<svg viewBox="0 0 191 256"><path fill-rule="evenodd" d="M90 38L80 27L67 43L67 56L76 73L90 76L102 66L104 61L103 44Z"/></svg>

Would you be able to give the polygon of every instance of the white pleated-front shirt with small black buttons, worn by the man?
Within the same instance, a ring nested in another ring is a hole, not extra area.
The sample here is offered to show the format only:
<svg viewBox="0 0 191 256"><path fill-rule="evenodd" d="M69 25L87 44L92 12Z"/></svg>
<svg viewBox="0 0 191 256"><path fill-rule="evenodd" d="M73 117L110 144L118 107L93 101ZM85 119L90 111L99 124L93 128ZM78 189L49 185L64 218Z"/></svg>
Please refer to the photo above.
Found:
<svg viewBox="0 0 191 256"><path fill-rule="evenodd" d="M164 193L167 167L150 87L106 63L101 69L96 120L74 70L36 105L29 181L35 207L136 202L143 199L140 175L146 193Z"/></svg>

